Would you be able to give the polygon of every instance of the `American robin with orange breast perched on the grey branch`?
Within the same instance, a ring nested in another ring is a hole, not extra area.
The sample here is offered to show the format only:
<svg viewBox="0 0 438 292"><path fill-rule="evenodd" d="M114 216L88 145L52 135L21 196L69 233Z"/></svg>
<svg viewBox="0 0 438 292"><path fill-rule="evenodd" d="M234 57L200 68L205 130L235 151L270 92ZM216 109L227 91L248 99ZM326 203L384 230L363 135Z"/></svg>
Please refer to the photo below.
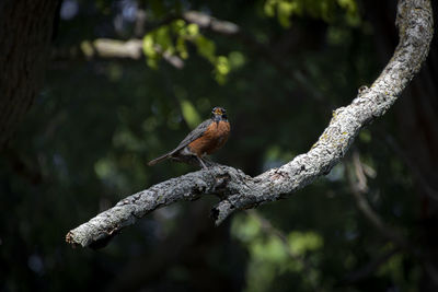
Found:
<svg viewBox="0 0 438 292"><path fill-rule="evenodd" d="M229 135L230 122L227 119L227 110L223 107L215 107L211 110L211 118L199 124L174 150L150 161L148 165L155 165L165 159L188 161L197 157L200 165L207 168L203 157L221 148Z"/></svg>

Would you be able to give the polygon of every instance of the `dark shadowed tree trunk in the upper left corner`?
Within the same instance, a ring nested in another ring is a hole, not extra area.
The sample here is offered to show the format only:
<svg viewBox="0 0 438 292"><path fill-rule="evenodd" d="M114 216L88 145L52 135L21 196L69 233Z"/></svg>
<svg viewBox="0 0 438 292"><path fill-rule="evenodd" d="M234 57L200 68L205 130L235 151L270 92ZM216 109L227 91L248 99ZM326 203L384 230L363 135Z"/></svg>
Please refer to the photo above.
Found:
<svg viewBox="0 0 438 292"><path fill-rule="evenodd" d="M58 4L58 0L0 2L0 149L42 84Z"/></svg>

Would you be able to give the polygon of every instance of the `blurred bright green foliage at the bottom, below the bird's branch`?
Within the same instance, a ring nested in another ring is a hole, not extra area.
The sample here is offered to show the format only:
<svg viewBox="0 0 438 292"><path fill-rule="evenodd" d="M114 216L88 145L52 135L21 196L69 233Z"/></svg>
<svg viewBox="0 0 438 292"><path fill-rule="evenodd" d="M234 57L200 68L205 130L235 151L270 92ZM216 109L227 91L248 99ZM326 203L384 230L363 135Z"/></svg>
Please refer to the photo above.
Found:
<svg viewBox="0 0 438 292"><path fill-rule="evenodd" d="M304 287L312 288L316 281L315 270L304 270L307 253L315 252L323 246L323 238L315 232L292 231L283 242L274 231L263 231L261 222L251 215L237 215L232 222L231 233L250 253L246 270L245 291L272 291L277 277L306 272L302 277Z"/></svg>

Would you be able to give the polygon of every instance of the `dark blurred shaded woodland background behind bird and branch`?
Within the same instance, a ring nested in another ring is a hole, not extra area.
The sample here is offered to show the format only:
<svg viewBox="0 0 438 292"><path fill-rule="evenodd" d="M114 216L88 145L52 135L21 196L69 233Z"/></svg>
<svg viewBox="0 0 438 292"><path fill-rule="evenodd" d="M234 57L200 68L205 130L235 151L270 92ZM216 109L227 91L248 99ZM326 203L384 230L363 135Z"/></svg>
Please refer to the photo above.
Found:
<svg viewBox="0 0 438 292"><path fill-rule="evenodd" d="M175 21L188 10L240 33L184 38ZM436 38L394 107L292 198L215 227L206 197L147 215L100 250L65 243L125 196L194 171L146 162L212 106L232 125L217 162L256 175L306 152L390 59L395 1L65 0L58 14L44 86L0 152L1 291L438 290ZM96 39L148 35L184 67L159 52L91 54Z"/></svg>

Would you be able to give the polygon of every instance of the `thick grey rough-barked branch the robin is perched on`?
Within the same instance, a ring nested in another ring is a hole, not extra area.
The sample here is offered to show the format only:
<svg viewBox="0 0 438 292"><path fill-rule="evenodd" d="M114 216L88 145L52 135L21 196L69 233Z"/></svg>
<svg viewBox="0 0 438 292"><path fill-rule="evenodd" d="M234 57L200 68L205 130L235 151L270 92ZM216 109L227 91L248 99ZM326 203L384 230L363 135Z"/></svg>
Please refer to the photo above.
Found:
<svg viewBox="0 0 438 292"><path fill-rule="evenodd" d="M360 129L382 116L419 71L429 50L433 16L428 0L399 1L396 24L400 43L380 77L346 107L333 112L330 125L311 150L289 163L256 177L230 166L215 166L171 178L127 197L114 208L71 230L67 242L96 244L157 208L178 200L215 194L220 202L212 210L216 223L235 210L249 209L290 197L296 190L327 174L345 155Z"/></svg>

